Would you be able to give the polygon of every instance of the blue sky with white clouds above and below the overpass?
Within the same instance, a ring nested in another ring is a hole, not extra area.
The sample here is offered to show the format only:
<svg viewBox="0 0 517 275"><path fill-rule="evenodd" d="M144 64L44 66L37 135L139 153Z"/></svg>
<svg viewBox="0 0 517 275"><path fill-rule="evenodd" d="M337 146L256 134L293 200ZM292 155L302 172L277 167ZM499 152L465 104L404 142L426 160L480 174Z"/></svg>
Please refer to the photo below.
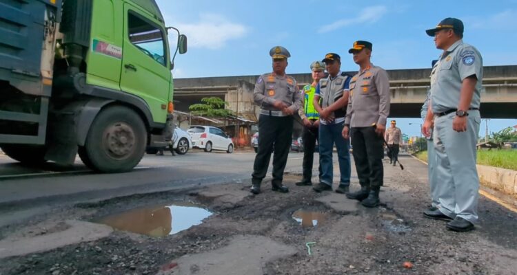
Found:
<svg viewBox="0 0 517 275"><path fill-rule="evenodd" d="M341 55L343 71L356 71L358 67L347 52L356 40L373 43L372 63L384 69L427 68L440 50L425 30L445 17L463 21L463 41L481 52L483 65L517 65L517 0L156 3L166 25L179 28L188 37L188 52L176 56L174 78L271 72L269 52L276 45L286 47L292 56L287 74L309 73L310 63L328 52ZM397 122L408 135L419 135L416 124L421 120ZM488 121L490 133L516 124L516 119ZM480 135L485 135L485 121Z"/></svg>

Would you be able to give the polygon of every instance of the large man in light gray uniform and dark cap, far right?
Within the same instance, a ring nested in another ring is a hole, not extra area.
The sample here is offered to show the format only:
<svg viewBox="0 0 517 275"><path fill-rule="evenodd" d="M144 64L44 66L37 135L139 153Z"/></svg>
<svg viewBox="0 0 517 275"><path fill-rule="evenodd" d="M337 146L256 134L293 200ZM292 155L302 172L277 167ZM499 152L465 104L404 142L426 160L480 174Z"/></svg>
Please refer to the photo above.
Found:
<svg viewBox="0 0 517 275"><path fill-rule="evenodd" d="M431 219L454 219L447 228L474 229L478 220L479 178L476 142L481 122L479 105L483 60L475 47L463 43L463 22L446 18L426 31L434 36L438 58L431 85L423 133L433 129L436 177L440 179L438 209L426 210Z"/></svg>

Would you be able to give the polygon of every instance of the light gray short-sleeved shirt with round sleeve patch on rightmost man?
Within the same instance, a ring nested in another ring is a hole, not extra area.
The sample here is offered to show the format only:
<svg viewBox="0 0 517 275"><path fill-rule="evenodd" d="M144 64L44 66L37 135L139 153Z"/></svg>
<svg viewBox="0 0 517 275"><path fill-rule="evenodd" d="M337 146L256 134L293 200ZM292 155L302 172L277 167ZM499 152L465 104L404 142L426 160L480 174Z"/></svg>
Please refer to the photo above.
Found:
<svg viewBox="0 0 517 275"><path fill-rule="evenodd" d="M436 74L436 76L434 76ZM433 113L458 108L461 84L468 76L478 78L469 108L479 108L483 82L483 59L475 47L456 41L440 56L431 76Z"/></svg>

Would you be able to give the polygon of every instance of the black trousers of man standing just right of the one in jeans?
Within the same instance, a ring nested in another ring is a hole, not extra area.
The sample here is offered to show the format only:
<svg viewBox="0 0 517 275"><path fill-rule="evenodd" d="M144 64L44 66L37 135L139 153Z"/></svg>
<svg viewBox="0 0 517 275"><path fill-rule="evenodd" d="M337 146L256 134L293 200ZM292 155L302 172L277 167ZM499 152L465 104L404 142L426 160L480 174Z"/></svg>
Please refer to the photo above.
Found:
<svg viewBox="0 0 517 275"><path fill-rule="evenodd" d="M384 177L383 137L375 133L374 127L354 127L350 131L359 184L372 189L381 187Z"/></svg>

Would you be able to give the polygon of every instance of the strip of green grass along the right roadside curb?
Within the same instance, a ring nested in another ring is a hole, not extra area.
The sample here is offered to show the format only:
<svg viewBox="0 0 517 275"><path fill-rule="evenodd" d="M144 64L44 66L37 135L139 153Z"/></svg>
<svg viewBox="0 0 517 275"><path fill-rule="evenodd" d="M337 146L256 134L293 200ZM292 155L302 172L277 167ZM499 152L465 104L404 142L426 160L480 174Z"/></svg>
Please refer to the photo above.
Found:
<svg viewBox="0 0 517 275"><path fill-rule="evenodd" d="M415 156L427 162L427 151ZM478 150L478 164L517 170L517 150Z"/></svg>

